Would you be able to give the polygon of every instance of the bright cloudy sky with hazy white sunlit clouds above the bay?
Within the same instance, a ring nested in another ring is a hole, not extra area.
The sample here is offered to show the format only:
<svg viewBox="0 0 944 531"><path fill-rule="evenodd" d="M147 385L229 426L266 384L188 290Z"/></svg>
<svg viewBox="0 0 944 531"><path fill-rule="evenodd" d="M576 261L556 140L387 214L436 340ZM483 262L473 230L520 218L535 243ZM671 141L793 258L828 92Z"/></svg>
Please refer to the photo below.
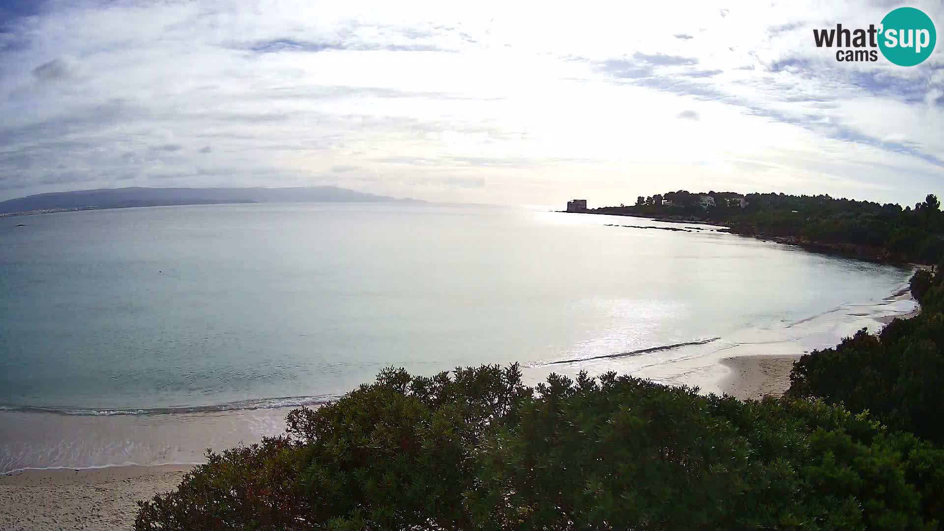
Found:
<svg viewBox="0 0 944 531"><path fill-rule="evenodd" d="M944 192L944 44L837 62L812 31L912 6L940 33L941 0L639 4L0 0L0 199Z"/></svg>

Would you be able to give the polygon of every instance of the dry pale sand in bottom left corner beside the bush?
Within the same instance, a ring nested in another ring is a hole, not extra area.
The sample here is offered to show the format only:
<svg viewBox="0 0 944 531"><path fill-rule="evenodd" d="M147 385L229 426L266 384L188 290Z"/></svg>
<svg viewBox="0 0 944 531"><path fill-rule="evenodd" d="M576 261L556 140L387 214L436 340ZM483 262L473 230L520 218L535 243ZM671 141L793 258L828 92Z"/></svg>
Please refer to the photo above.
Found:
<svg viewBox="0 0 944 531"><path fill-rule="evenodd" d="M138 506L189 466L19 471L0 476L0 530L130 529Z"/></svg>

